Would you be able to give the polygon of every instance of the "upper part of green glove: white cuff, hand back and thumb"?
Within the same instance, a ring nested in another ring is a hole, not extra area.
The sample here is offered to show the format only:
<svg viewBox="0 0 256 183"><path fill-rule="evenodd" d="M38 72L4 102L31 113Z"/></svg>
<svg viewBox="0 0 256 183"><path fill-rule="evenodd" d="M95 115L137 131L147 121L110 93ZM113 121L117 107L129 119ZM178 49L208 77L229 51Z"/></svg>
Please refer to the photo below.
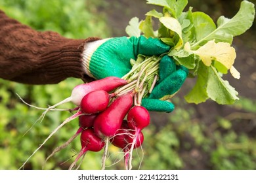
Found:
<svg viewBox="0 0 256 183"><path fill-rule="evenodd" d="M130 59L160 55L170 46L159 39L140 37L116 37L88 42L83 52L83 67L87 75L101 79L107 76L121 78L131 70Z"/></svg>

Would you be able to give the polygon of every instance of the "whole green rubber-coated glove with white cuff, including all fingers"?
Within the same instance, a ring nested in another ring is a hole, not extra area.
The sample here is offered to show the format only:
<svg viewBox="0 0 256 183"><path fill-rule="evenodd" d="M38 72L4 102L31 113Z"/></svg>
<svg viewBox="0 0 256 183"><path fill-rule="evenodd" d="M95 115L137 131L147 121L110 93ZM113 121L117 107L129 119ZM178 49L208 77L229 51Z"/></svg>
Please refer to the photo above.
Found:
<svg viewBox="0 0 256 183"><path fill-rule="evenodd" d="M136 60L139 54L158 56L169 50L170 46L161 42L160 39L147 39L144 36L117 37L88 42L83 52L83 69L88 76L95 79L107 76L121 78L131 70L131 58ZM169 56L164 56L160 62L160 80L151 95L147 99L142 99L142 106L150 111L171 112L174 105L160 99L176 93L181 88L185 75L187 76L187 73L184 69L176 69L175 62ZM164 87L161 82L165 84Z"/></svg>

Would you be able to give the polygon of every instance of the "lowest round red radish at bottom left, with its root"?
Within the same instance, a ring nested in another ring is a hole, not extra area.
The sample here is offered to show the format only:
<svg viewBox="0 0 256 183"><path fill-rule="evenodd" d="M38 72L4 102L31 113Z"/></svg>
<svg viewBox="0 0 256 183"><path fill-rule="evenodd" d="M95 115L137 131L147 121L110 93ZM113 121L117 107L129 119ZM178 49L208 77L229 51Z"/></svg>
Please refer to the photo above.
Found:
<svg viewBox="0 0 256 183"><path fill-rule="evenodd" d="M75 161L70 165L69 169L73 169L75 166L75 163L83 156L87 151L93 151L93 152L98 152L102 150L104 147L105 143L95 135L95 132L91 128L87 128L82 131L81 137L80 137L80 142L81 142L81 150L75 158Z"/></svg>

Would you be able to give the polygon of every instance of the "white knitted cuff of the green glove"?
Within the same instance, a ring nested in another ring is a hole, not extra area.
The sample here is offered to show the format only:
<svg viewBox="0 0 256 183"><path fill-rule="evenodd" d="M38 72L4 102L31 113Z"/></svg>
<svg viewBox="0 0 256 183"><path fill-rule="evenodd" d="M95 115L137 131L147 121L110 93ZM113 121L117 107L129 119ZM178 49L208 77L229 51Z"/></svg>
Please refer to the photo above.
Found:
<svg viewBox="0 0 256 183"><path fill-rule="evenodd" d="M92 41L92 42L86 42L84 49L83 49L83 53L82 55L82 67L83 67L83 71L85 72L86 75L95 78L95 76L93 76L91 74L91 71L89 69L90 67L90 62L91 62L91 57L93 56L93 53L96 51L96 49L102 45L104 42L108 41L108 39L100 39L97 41Z"/></svg>

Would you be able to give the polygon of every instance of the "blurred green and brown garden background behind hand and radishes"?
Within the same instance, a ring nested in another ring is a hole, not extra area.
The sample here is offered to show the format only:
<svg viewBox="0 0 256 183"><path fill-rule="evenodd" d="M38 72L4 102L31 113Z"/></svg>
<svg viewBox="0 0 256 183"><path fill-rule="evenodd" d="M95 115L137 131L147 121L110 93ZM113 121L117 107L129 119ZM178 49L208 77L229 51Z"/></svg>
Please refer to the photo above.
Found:
<svg viewBox="0 0 256 183"><path fill-rule="evenodd" d="M213 20L228 18L238 11L241 1L190 0L188 7L209 14ZM252 1L255 3L255 0ZM23 24L39 31L51 30L64 37L119 37L134 16L140 19L156 8L145 0L125 1L51 1L1 0L0 9ZM234 105L206 101L188 104L184 94L194 84L188 78L173 99L171 114L151 112L152 124L144 129L142 149L134 152L134 169L256 169L256 39L255 24L234 39L235 67L241 78L225 76L240 93ZM0 169L18 169L45 138L70 112L48 112L37 122L42 110L26 102L47 107L68 97L81 80L68 78L55 85L30 86L0 79ZM66 104L62 108L72 108ZM24 169L42 169L45 158L66 142L77 130L74 120L60 129L25 165ZM29 130L29 131L28 131ZM122 154L110 146L106 169L123 169ZM68 169L80 150L79 138L55 154L45 169ZM102 152L88 152L80 169L100 169Z"/></svg>

